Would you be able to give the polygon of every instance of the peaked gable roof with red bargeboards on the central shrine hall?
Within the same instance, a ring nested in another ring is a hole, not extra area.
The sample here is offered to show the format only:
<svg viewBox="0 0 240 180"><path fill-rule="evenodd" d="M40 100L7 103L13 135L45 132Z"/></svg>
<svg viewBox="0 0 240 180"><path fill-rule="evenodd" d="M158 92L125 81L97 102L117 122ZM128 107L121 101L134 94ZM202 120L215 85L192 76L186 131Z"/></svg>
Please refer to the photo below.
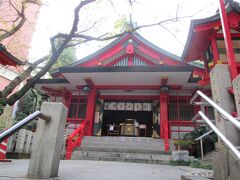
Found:
<svg viewBox="0 0 240 180"><path fill-rule="evenodd" d="M129 39L132 39L132 45L134 46L134 48L136 48L134 51L136 54L146 58L147 55L144 52L141 52L140 46L141 48L146 47L147 49L150 49L151 52L154 52L155 55L159 56L159 59L155 59L150 57L149 58L150 61L153 61L154 66L159 65L161 59L160 57L164 57L164 61L169 61L171 62L170 64L178 64L181 66L191 66L191 67L195 67L195 68L200 68L202 69L203 67L197 66L193 63L184 63L182 62L181 58L175 54L172 54L162 48L159 48L158 46L154 45L153 43L149 42L148 40L146 40L145 38L143 38L140 34L138 34L137 32L128 32L126 34L123 34L122 36L117 37L115 40L113 40L110 44L108 44L107 46L101 48L100 50L94 52L91 55L86 56L83 59L80 59L78 61L75 61L71 64L68 64L66 66L63 66L61 68L55 69L53 71L51 71L51 75L53 75L53 77L61 77L61 70L65 67L92 67L92 65L89 65L88 63L91 63L92 61L95 61L96 59L101 59L101 55L102 54L107 54L108 52L111 52L112 49L121 46L120 50L118 52L114 52L116 54L112 54L111 57L109 59L104 59L103 61L107 61L107 63L113 61L113 59L116 59L118 56L121 57L126 53L126 48L127 45L129 44ZM126 43L127 42L127 43ZM114 51L114 50L113 50ZM112 53L112 52L111 52ZM86 65L88 64L88 65ZM98 65L93 65L94 66L98 66ZM105 65L100 65L101 66L105 66Z"/></svg>

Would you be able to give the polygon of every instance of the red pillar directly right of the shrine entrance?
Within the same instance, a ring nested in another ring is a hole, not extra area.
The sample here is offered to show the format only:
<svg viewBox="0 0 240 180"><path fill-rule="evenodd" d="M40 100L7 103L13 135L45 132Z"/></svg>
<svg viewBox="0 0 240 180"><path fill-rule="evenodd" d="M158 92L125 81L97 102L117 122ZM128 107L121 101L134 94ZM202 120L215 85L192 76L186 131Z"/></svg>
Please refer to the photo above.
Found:
<svg viewBox="0 0 240 180"><path fill-rule="evenodd" d="M165 139L165 151L169 150L168 143L168 93L160 92L160 138Z"/></svg>

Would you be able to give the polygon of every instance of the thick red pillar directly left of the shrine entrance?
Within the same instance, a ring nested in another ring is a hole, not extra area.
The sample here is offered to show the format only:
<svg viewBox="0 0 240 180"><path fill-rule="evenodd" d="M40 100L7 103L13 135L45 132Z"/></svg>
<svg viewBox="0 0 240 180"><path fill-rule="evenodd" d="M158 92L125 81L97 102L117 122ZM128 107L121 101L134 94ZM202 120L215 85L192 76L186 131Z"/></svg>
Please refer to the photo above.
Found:
<svg viewBox="0 0 240 180"><path fill-rule="evenodd" d="M88 93L87 112L86 112L86 136L91 136L93 131L93 122L96 106L97 90L92 88Z"/></svg>

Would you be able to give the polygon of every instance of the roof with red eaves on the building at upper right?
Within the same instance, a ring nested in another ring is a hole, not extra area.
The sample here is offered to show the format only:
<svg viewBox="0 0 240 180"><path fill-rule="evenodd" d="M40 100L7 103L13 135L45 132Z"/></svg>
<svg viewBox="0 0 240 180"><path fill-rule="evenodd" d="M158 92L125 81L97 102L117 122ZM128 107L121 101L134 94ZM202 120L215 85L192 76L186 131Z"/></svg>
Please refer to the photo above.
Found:
<svg viewBox="0 0 240 180"><path fill-rule="evenodd" d="M226 5L226 11L229 14L230 12L236 12L240 13L240 5L236 1L229 0L229 3ZM194 61L197 60L199 57L199 53L202 53L201 47L204 47L208 45L208 41L206 40L206 37L209 36L209 33L213 29L210 30L205 30L202 32L195 32L194 28L197 25L202 25L202 24L208 24L208 23L214 23L214 22L219 22L219 25L221 26L221 20L220 20L220 14L219 11L216 12L215 15L208 17L208 18L203 18L203 19L194 19L191 21L190 28L189 28L189 33L187 37L187 41L185 44L185 48L183 50L181 59L184 62L189 62L189 61ZM195 42L197 42L197 47L195 46ZM193 50L196 50L196 53L193 53ZM190 53L192 53L190 55Z"/></svg>

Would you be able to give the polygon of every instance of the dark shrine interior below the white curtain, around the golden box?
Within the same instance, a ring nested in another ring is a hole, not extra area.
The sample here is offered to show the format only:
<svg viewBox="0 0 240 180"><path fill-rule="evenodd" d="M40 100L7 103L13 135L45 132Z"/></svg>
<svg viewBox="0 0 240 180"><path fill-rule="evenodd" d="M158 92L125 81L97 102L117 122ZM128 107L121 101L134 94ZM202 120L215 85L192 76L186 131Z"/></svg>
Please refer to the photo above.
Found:
<svg viewBox="0 0 240 180"><path fill-rule="evenodd" d="M153 124L153 112L152 111L112 111L104 110L103 113L103 124L102 124L102 136L124 136L121 132L123 131L123 124L126 120L134 120L137 123L135 131L136 137L152 137L152 124ZM115 126L119 130L119 133L109 134L109 125Z"/></svg>

